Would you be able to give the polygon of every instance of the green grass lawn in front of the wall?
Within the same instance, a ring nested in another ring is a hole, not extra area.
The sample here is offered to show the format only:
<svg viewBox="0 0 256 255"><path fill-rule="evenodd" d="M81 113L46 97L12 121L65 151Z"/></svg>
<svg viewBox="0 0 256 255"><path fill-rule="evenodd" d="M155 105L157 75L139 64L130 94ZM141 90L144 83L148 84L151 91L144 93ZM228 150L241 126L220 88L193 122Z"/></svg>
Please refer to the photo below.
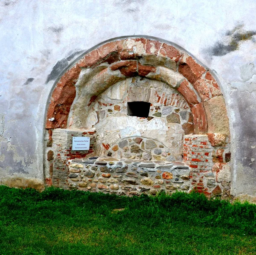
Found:
<svg viewBox="0 0 256 255"><path fill-rule="evenodd" d="M4 255L256 254L256 206L249 203L6 186L0 203Z"/></svg>

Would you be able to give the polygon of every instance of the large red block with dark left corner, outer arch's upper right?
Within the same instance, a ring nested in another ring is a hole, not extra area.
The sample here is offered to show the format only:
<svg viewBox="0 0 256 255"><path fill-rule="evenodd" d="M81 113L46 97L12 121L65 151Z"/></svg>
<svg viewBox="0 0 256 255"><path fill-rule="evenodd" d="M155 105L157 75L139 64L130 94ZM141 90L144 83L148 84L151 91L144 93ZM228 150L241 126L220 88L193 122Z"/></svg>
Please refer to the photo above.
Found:
<svg viewBox="0 0 256 255"><path fill-rule="evenodd" d="M193 84L206 70L195 62L192 57L187 57L185 61L183 59L180 60L179 72Z"/></svg>

